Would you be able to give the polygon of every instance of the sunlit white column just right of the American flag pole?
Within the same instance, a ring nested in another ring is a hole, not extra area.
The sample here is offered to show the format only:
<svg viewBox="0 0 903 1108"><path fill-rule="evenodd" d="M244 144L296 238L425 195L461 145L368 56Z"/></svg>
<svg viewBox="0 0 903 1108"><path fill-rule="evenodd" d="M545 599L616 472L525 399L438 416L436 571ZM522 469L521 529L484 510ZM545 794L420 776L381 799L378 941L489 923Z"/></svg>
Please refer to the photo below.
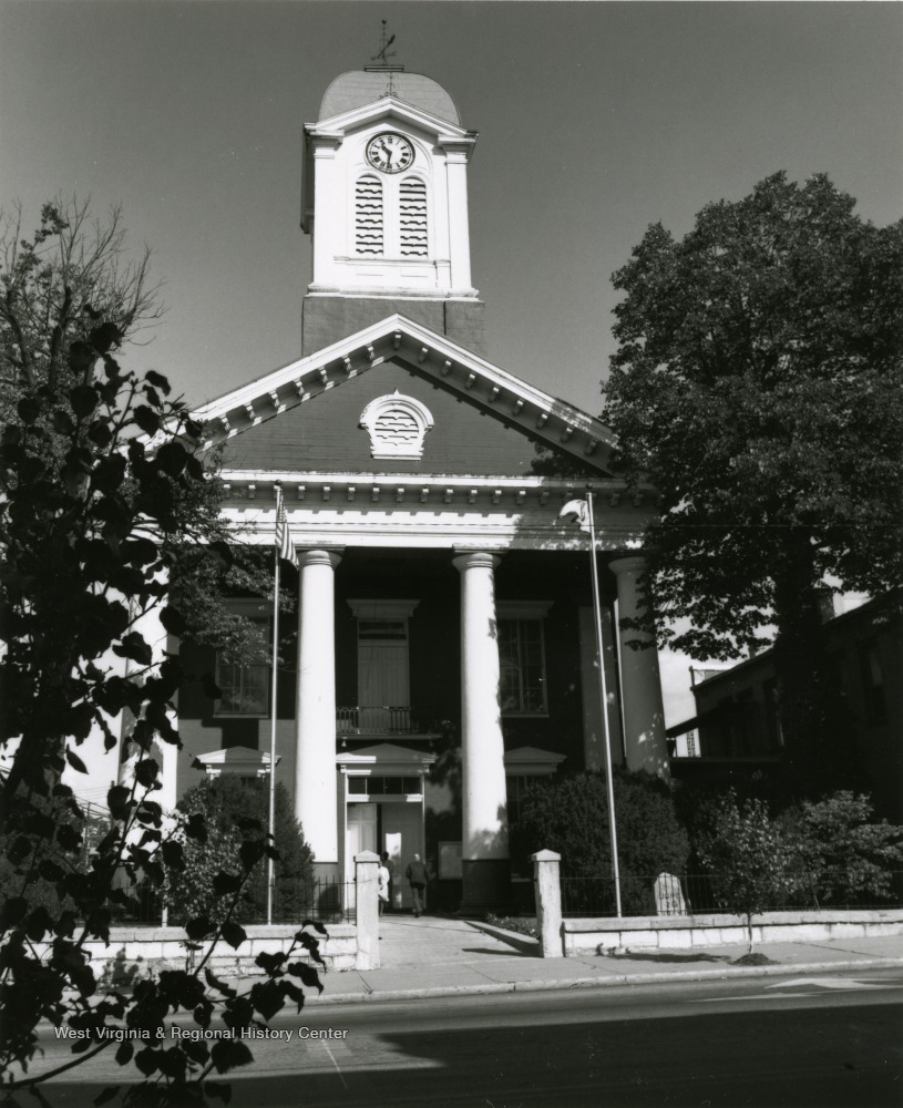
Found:
<svg viewBox="0 0 903 1108"><path fill-rule="evenodd" d="M338 864L336 809L336 604L340 558L299 551L295 818L317 863Z"/></svg>

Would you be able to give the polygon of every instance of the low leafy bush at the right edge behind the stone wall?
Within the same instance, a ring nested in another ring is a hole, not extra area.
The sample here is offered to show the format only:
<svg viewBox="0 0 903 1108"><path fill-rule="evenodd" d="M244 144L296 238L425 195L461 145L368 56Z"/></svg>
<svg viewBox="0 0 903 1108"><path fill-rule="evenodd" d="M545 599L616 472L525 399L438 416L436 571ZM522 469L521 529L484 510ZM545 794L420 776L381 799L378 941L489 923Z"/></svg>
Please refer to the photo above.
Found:
<svg viewBox="0 0 903 1108"><path fill-rule="evenodd" d="M843 790L782 815L817 904L890 900L903 870L903 828L872 822L865 796Z"/></svg>

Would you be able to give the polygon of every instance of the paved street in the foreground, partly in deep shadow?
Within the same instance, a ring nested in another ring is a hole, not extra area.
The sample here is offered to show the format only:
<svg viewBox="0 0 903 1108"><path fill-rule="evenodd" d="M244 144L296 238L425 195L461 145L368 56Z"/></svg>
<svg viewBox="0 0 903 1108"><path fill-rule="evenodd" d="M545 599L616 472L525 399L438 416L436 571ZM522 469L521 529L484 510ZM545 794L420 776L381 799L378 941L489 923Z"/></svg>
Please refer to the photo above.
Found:
<svg viewBox="0 0 903 1108"><path fill-rule="evenodd" d="M394 1002L277 1017L237 1108L882 1108L903 1100L903 972ZM332 1038L302 1038L308 1029ZM54 1051L55 1053L55 1051ZM52 1083L54 1108L91 1086ZM98 1084L94 1084L98 1083Z"/></svg>

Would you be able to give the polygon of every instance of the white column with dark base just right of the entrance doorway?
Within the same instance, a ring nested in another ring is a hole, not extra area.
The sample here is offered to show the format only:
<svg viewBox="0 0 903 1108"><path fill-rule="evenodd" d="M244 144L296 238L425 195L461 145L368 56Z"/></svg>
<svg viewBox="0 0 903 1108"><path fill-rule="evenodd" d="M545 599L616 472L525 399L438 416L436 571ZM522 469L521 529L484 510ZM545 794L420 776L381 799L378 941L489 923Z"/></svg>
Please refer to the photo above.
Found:
<svg viewBox="0 0 903 1108"><path fill-rule="evenodd" d="M461 574L461 730L464 903L497 899L507 873L505 748L492 554L454 558ZM489 863L489 864L486 864Z"/></svg>

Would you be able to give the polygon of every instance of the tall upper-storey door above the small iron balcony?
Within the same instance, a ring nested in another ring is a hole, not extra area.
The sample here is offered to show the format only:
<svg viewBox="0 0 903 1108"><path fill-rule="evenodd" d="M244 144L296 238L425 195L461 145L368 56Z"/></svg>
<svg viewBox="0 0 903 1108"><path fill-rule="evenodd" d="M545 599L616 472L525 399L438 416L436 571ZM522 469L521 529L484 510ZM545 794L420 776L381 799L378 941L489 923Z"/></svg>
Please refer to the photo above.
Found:
<svg viewBox="0 0 903 1108"><path fill-rule="evenodd" d="M403 730L410 705L408 620L358 622L358 705L362 731Z"/></svg>

